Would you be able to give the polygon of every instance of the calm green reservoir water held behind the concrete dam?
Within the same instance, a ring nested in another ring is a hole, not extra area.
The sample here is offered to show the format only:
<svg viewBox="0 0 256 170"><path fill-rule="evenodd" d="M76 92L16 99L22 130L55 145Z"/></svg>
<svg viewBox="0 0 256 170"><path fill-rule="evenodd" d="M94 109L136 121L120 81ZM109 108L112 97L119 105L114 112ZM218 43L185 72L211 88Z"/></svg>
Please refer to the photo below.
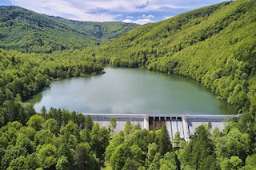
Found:
<svg viewBox="0 0 256 170"><path fill-rule="evenodd" d="M106 73L52 81L30 101L79 113L143 113L227 115L234 110L200 83L146 69L106 67Z"/></svg>

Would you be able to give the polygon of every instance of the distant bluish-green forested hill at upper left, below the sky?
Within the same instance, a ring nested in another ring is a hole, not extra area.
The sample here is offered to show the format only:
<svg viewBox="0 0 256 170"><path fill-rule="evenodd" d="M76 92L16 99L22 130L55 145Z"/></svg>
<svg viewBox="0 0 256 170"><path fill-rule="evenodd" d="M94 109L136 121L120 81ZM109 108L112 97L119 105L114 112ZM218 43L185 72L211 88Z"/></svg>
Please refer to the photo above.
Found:
<svg viewBox="0 0 256 170"><path fill-rule="evenodd" d="M0 6L0 48L36 53L82 49L107 42L137 26L122 22L75 22L18 6Z"/></svg>

